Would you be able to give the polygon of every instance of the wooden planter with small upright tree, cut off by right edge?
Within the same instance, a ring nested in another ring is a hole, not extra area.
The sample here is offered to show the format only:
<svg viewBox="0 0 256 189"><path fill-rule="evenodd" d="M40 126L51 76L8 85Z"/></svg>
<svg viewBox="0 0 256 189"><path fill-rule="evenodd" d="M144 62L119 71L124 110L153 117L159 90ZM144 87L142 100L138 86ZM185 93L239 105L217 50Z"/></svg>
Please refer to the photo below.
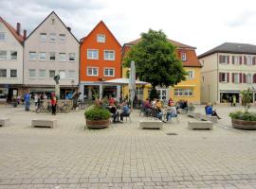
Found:
<svg viewBox="0 0 256 189"><path fill-rule="evenodd" d="M230 112L232 127L237 129L256 129L256 112L248 112L252 100L251 91L247 89L241 92L242 104L245 112Z"/></svg>

